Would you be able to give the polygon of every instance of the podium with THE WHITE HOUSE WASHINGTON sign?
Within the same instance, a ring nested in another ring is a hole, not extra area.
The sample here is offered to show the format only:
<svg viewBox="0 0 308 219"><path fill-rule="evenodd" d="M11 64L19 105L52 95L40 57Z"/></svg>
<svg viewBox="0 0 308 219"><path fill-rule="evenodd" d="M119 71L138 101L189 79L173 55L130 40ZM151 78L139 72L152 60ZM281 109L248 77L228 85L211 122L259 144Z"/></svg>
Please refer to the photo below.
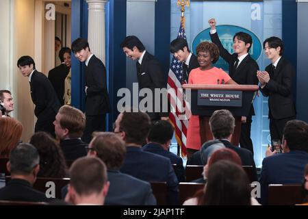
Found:
<svg viewBox="0 0 308 219"><path fill-rule="evenodd" d="M188 94L191 90L190 110L192 115L199 116L201 145L208 140L213 140L209 129L209 118L215 110L229 110L235 118L235 128L231 143L238 146L241 133L241 117L247 116L251 110L251 103L255 92L259 89L256 85L229 85L229 84L190 84L182 86Z"/></svg>

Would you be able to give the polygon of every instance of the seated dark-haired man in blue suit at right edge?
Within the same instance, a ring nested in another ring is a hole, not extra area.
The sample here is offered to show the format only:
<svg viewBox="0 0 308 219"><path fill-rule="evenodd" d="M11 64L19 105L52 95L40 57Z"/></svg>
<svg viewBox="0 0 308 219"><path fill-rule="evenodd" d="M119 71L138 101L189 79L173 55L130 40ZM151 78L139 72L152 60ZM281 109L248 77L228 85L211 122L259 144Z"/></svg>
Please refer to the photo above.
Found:
<svg viewBox="0 0 308 219"><path fill-rule="evenodd" d="M283 129L283 153L276 154L270 147L261 169L261 204L268 203L269 184L300 184L308 163L308 124L290 120Z"/></svg>

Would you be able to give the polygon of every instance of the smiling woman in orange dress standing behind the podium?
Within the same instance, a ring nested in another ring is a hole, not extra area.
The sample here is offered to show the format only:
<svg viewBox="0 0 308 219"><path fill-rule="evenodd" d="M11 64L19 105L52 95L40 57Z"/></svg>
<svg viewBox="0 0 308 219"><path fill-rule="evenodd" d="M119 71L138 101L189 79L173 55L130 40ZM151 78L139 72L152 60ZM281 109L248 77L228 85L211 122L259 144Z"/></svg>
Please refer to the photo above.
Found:
<svg viewBox="0 0 308 219"><path fill-rule="evenodd" d="M201 42L196 47L199 68L194 68L188 77L188 83L195 84L238 84L221 68L212 66L219 58L219 49L212 42ZM190 116L186 140L188 158L201 148L199 134L199 116Z"/></svg>

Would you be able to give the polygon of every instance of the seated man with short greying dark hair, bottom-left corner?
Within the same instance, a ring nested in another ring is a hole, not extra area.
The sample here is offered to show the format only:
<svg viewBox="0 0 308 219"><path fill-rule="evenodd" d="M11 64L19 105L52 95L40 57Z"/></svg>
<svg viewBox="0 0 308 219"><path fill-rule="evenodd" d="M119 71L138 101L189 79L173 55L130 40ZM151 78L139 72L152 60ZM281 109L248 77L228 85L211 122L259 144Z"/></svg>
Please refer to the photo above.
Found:
<svg viewBox="0 0 308 219"><path fill-rule="evenodd" d="M10 153L7 164L11 180L0 190L0 200L49 202L53 198L34 190L32 186L40 170L38 150L31 144L18 144Z"/></svg>

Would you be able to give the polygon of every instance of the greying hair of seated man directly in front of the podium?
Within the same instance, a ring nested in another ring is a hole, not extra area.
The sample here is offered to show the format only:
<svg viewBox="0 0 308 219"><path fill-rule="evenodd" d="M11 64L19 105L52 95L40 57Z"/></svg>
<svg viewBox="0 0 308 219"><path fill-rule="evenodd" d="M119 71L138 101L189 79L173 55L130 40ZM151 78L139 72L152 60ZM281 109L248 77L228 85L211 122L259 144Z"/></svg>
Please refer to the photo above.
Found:
<svg viewBox="0 0 308 219"><path fill-rule="evenodd" d="M229 110L216 110L209 118L209 127L214 138L227 138L234 131L235 119Z"/></svg>

